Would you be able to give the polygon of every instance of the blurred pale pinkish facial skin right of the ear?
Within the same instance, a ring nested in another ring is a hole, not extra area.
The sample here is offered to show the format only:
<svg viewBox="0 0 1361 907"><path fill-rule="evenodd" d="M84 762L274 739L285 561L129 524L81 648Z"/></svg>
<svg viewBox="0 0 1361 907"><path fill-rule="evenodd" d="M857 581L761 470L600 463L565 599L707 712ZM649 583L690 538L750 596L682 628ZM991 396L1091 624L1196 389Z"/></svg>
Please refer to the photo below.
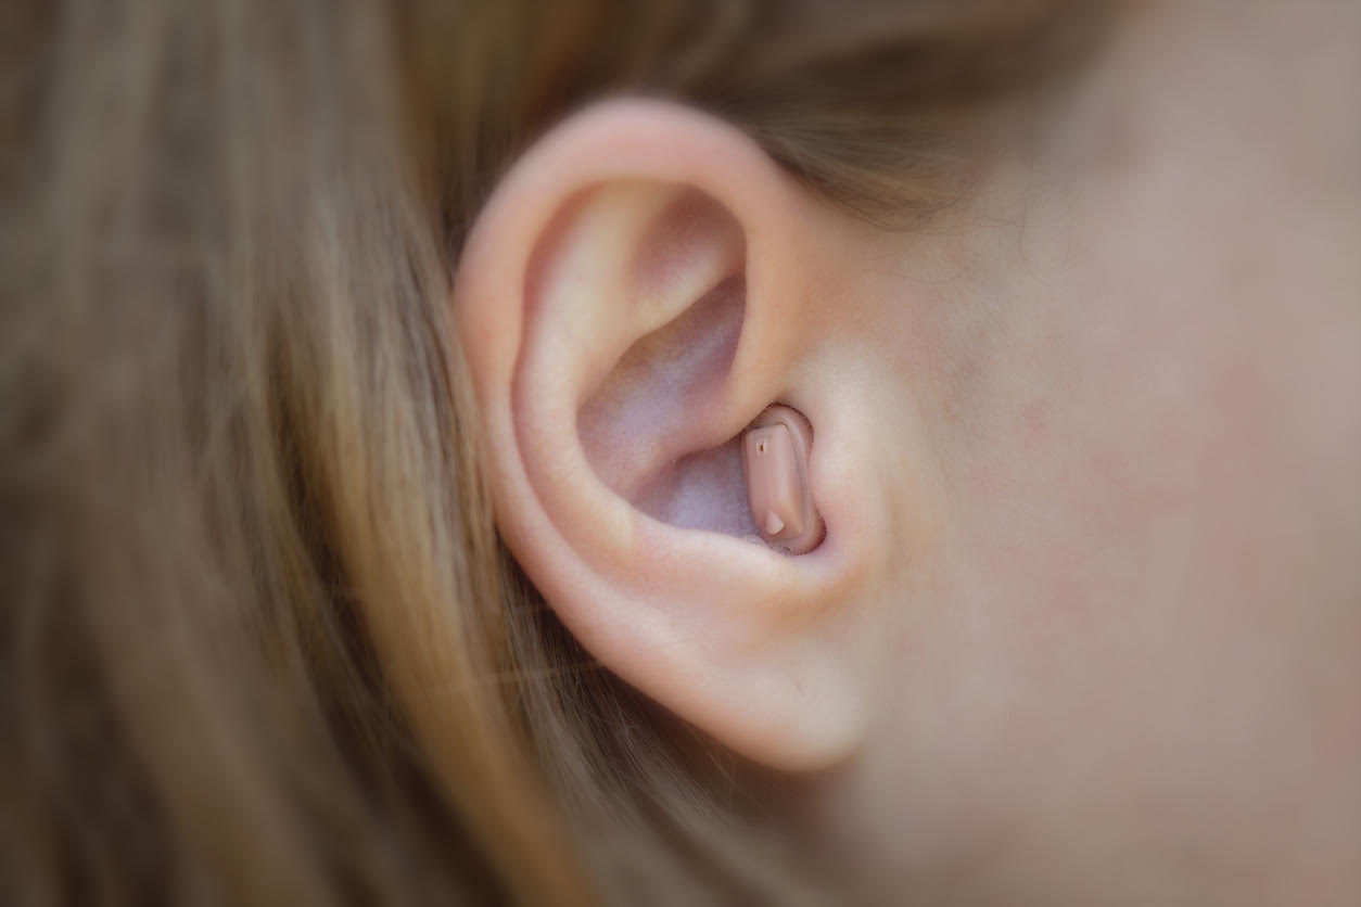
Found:
<svg viewBox="0 0 1361 907"><path fill-rule="evenodd" d="M822 791L876 893L1361 899L1358 35L1147 4L954 228L866 238L947 502Z"/></svg>

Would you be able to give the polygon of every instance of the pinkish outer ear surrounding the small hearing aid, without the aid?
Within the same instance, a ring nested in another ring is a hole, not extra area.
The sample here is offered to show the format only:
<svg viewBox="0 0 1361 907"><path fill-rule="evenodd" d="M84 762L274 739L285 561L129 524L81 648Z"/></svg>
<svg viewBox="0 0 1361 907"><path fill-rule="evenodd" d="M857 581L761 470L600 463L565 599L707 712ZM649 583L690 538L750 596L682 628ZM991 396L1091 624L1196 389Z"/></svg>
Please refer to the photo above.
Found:
<svg viewBox="0 0 1361 907"><path fill-rule="evenodd" d="M455 290L506 543L600 662L781 768L864 732L845 645L864 496L803 354L827 215L740 132L644 101L578 113L487 203ZM751 544L743 430L811 423L823 544ZM744 538L746 536L746 538Z"/></svg>

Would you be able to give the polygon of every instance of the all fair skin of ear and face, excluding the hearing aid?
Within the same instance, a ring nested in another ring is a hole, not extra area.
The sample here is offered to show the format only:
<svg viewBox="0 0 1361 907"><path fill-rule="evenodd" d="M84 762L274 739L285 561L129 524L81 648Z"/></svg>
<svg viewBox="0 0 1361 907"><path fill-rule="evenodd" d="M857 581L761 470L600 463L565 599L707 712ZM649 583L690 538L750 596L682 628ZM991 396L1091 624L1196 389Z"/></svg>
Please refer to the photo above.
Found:
<svg viewBox="0 0 1361 907"><path fill-rule="evenodd" d="M509 545L796 772L780 815L868 900L1361 897L1358 34L1138 4L916 231L627 101L483 211L453 305ZM814 431L799 558L742 538L772 403Z"/></svg>

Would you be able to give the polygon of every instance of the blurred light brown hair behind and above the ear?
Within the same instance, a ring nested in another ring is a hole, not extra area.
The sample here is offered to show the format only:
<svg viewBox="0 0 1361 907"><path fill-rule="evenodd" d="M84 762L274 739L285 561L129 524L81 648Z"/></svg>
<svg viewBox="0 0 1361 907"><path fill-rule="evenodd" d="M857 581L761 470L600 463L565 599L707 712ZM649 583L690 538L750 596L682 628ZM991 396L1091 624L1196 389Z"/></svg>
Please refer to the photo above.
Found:
<svg viewBox="0 0 1361 907"><path fill-rule="evenodd" d="M740 790L685 753L720 782L727 756L592 665L501 547L448 317L460 242L516 154L608 92L708 109L829 200L920 218L974 159L962 114L1067 58L1072 11L0 19L5 893L789 896Z"/></svg>

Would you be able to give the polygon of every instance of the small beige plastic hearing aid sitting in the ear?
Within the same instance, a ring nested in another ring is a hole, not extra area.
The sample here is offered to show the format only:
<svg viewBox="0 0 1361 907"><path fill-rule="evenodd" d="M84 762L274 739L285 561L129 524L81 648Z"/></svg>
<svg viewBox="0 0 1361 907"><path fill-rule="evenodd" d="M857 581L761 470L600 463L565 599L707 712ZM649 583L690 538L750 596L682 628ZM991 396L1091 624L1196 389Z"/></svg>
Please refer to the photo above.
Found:
<svg viewBox="0 0 1361 907"><path fill-rule="evenodd" d="M776 551L802 555L822 541L822 517L808 487L813 428L796 409L773 405L747 428L742 464L747 499L761 538Z"/></svg>

